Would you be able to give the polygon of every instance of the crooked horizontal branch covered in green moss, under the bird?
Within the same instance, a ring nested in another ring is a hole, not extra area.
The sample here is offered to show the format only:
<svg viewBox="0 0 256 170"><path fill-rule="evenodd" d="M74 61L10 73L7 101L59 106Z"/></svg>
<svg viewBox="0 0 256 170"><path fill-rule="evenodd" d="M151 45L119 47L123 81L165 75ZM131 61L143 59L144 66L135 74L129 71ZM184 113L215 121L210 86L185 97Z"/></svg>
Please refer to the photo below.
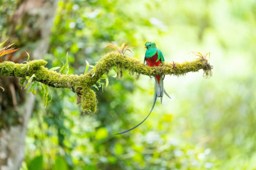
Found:
<svg viewBox="0 0 256 170"><path fill-rule="evenodd" d="M108 73L114 66L147 76L181 76L190 71L195 72L203 69L204 76L210 77L212 69L208 61L203 58L180 64L165 62L158 67L150 67L135 58L122 56L117 52L104 55L96 64L95 72L92 69L80 76L62 75L56 71L50 71L45 67L46 64L47 62L44 60L33 60L26 64L15 64L10 61L4 61L0 63L0 76L25 78L27 76L31 77L34 74L35 78L33 81L38 81L57 88L70 88L78 95L77 104L81 103L82 109L91 113L96 111L97 106L96 94L91 89L91 86L96 84L102 75Z"/></svg>

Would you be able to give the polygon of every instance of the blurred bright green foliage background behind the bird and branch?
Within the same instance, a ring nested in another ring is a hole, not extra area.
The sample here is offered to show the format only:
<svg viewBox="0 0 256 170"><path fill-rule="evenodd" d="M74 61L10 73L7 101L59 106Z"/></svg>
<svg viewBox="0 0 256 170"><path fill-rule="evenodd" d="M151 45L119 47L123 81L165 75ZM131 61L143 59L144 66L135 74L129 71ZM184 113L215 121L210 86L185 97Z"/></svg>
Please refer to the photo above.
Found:
<svg viewBox="0 0 256 170"><path fill-rule="evenodd" d="M3 1L0 23L14 4ZM127 55L143 62L144 43L153 41L168 62L210 52L213 75L166 76L172 100L158 101L146 122L117 136L150 111L154 80L136 81L125 70L116 79L110 71L109 86L94 89L93 115L80 110L71 90L50 88L46 108L36 95L21 169L41 161L43 169L255 169L255 29L251 0L58 1L48 68L61 66L69 52L69 74L83 74L86 60L94 65L111 51L107 41L132 42L137 47ZM4 39L5 28L0 31Z"/></svg>

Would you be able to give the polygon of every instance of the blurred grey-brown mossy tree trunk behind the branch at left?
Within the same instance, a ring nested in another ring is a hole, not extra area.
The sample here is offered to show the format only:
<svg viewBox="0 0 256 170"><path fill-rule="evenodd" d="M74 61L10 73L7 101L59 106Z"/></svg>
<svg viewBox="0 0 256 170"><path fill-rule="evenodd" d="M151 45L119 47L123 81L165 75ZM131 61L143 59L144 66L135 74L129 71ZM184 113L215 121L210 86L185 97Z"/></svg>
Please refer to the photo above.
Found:
<svg viewBox="0 0 256 170"><path fill-rule="evenodd" d="M15 2L16 10L4 27L6 37L17 42L16 46L20 50L15 56L7 56L6 60L24 61L22 58L26 54L25 51L29 52L33 59L42 59L48 51L57 2ZM19 169L24 160L27 125L35 98L32 93L24 95L18 82L17 78L0 80L0 86L5 88L5 91L0 93L0 169Z"/></svg>

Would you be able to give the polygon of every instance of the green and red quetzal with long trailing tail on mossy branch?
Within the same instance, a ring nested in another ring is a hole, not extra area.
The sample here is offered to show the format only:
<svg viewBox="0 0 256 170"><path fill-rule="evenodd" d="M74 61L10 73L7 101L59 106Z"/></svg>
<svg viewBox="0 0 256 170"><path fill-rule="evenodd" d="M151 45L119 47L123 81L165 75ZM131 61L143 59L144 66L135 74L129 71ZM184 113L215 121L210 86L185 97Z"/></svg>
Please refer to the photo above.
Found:
<svg viewBox="0 0 256 170"><path fill-rule="evenodd" d="M157 48L156 43L146 42L144 47L146 48L144 64L146 62L146 65L154 67L154 66L158 66L159 64L164 62L163 54ZM156 104L157 98L161 98L161 104L162 104L163 93L165 93L168 96L168 98L171 99L170 96L168 95L168 93L163 88L163 79L164 79L164 75L163 76L161 76L161 75L155 76L154 102L153 102L153 106L150 110L150 113L146 116L146 118L141 123L139 123L137 126L131 128L129 130L126 130L124 132L116 133L115 135L129 132L129 131L137 128L138 126L140 126L147 119L147 117L150 116L150 114Z"/></svg>

